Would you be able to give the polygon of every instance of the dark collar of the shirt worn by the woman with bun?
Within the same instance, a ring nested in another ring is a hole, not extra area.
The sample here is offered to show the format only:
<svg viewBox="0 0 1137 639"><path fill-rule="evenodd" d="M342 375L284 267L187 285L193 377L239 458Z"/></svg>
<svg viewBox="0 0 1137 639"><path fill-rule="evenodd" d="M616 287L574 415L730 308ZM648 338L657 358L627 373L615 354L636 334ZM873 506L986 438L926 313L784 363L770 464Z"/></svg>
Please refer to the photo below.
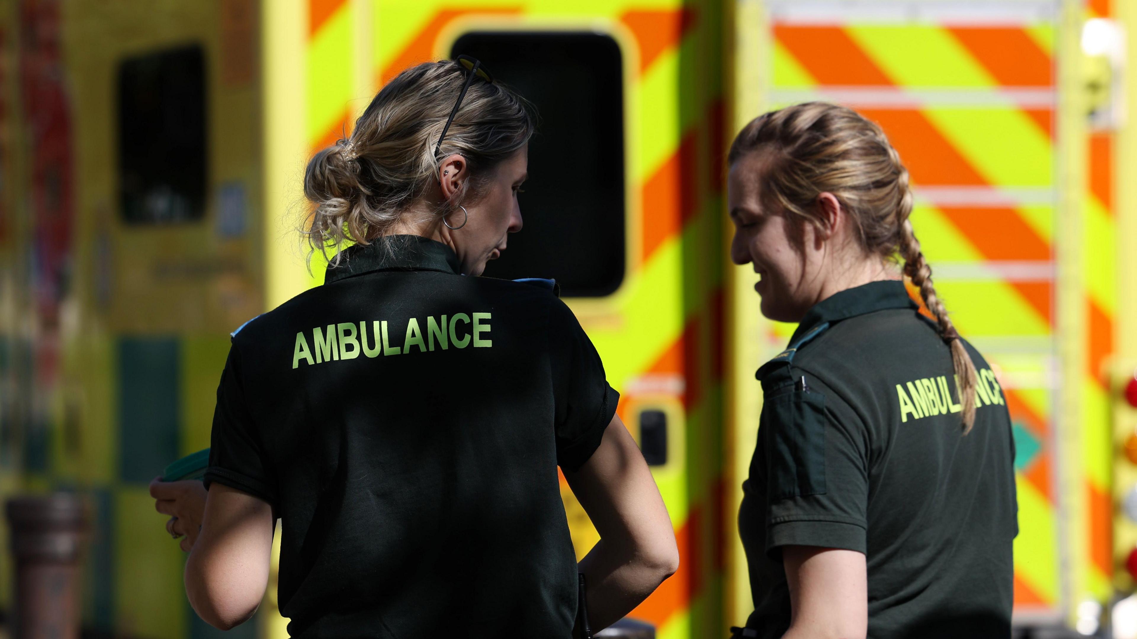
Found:
<svg viewBox="0 0 1137 639"><path fill-rule="evenodd" d="M324 283L374 271L441 271L458 275L462 265L454 250L441 242L421 235L384 235L343 249L339 265L327 265Z"/></svg>

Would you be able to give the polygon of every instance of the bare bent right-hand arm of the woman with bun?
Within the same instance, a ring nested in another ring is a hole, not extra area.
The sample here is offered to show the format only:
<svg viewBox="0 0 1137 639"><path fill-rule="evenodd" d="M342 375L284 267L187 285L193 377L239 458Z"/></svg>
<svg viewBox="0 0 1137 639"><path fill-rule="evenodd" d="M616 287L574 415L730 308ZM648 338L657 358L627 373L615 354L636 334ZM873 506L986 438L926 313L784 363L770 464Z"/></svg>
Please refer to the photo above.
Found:
<svg viewBox="0 0 1137 639"><path fill-rule="evenodd" d="M675 532L652 472L619 416L596 453L565 479L600 541L580 562L589 623L600 630L622 619L679 567Z"/></svg>

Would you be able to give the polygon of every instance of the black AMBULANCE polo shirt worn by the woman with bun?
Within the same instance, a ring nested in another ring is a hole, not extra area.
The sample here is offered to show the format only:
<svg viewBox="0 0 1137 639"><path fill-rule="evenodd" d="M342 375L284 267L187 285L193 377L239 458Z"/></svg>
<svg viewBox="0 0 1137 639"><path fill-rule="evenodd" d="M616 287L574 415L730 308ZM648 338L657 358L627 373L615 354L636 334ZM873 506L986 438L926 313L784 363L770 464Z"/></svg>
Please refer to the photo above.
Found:
<svg viewBox="0 0 1137 639"><path fill-rule="evenodd" d="M392 236L234 334L206 481L281 518L292 637L568 637L557 465L617 400L551 287Z"/></svg>

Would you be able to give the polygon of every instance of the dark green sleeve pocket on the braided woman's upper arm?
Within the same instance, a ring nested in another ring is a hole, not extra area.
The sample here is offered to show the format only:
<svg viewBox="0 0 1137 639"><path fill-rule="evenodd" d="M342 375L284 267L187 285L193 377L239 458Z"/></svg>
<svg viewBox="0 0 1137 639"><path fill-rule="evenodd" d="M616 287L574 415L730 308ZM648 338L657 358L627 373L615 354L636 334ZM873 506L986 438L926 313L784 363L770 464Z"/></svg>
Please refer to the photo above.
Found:
<svg viewBox="0 0 1137 639"><path fill-rule="evenodd" d="M825 396L797 385L767 392L762 407L770 501L825 493Z"/></svg>

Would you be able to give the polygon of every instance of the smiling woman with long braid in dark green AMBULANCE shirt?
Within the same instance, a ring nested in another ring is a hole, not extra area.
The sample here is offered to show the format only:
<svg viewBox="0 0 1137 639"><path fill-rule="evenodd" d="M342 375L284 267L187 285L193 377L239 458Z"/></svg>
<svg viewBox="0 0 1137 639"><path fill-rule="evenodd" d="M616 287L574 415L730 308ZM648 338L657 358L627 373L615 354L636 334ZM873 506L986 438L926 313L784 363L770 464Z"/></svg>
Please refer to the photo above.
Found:
<svg viewBox="0 0 1137 639"><path fill-rule="evenodd" d="M750 122L729 160L731 257L763 315L798 323L757 373L739 513L755 611L735 637L1010 637L1011 421L936 294L899 156L811 102Z"/></svg>

